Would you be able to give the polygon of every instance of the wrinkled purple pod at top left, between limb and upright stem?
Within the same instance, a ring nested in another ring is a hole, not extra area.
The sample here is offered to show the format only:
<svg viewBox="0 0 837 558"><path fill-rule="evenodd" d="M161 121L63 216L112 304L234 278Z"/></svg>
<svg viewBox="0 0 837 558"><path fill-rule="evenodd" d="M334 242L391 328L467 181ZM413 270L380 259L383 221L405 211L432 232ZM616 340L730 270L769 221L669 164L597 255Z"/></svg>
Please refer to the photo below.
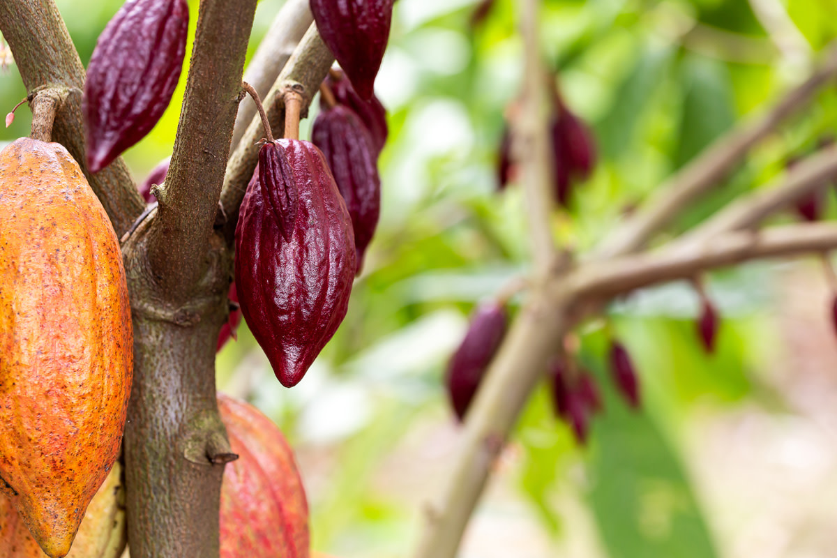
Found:
<svg viewBox="0 0 837 558"><path fill-rule="evenodd" d="M108 166L160 120L180 78L188 26L186 0L127 0L105 27L82 100L91 172Z"/></svg>

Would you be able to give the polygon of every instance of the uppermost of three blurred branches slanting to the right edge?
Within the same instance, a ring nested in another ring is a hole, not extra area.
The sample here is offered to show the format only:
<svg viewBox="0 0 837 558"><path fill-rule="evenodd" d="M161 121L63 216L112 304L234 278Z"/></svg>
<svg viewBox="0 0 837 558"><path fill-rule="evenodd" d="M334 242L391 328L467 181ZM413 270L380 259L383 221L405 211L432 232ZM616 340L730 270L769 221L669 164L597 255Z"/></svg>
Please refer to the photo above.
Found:
<svg viewBox="0 0 837 558"><path fill-rule="evenodd" d="M712 188L747 155L752 146L768 136L788 115L811 100L814 93L837 75L837 45L832 45L819 67L803 84L788 92L773 109L737 126L703 151L662 186L659 194L615 228L593 253L608 259L642 248L680 212Z"/></svg>

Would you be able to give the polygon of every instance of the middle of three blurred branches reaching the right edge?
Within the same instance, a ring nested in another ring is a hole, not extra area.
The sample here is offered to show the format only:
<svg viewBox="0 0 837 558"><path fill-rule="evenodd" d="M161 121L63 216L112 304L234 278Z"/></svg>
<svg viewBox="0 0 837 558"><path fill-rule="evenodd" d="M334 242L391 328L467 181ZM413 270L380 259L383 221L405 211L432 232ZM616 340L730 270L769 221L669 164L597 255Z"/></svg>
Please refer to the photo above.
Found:
<svg viewBox="0 0 837 558"><path fill-rule="evenodd" d="M684 246L710 239L714 242L719 233L755 228L765 218L782 211L805 194L828 187L835 177L837 146L824 147L813 156L799 161L785 177L775 180L773 187L739 197L675 243Z"/></svg>

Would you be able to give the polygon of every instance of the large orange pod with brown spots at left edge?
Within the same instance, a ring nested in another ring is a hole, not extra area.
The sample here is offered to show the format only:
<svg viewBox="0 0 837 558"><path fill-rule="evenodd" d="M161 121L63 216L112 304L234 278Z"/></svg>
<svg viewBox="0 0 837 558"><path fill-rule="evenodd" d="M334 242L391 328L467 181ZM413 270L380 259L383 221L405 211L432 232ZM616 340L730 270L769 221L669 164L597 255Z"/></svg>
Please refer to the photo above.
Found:
<svg viewBox="0 0 837 558"><path fill-rule="evenodd" d="M116 461L133 373L116 234L64 146L0 151L0 489L52 558Z"/></svg>

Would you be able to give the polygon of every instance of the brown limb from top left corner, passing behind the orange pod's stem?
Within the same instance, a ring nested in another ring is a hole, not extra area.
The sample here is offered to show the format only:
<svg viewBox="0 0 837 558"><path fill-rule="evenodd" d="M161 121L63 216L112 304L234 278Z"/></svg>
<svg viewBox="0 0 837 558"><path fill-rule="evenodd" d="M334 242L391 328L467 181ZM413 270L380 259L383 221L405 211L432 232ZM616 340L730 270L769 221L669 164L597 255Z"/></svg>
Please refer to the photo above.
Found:
<svg viewBox="0 0 837 558"><path fill-rule="evenodd" d="M146 204L136 192L128 167L121 158L95 175L87 169L80 95L85 86L85 69L54 0L3 0L0 2L0 31L12 49L23 84L30 94L45 86L78 92L69 95L56 115L53 139L66 147L79 163L87 182L105 207L116 236L121 236Z"/></svg>

